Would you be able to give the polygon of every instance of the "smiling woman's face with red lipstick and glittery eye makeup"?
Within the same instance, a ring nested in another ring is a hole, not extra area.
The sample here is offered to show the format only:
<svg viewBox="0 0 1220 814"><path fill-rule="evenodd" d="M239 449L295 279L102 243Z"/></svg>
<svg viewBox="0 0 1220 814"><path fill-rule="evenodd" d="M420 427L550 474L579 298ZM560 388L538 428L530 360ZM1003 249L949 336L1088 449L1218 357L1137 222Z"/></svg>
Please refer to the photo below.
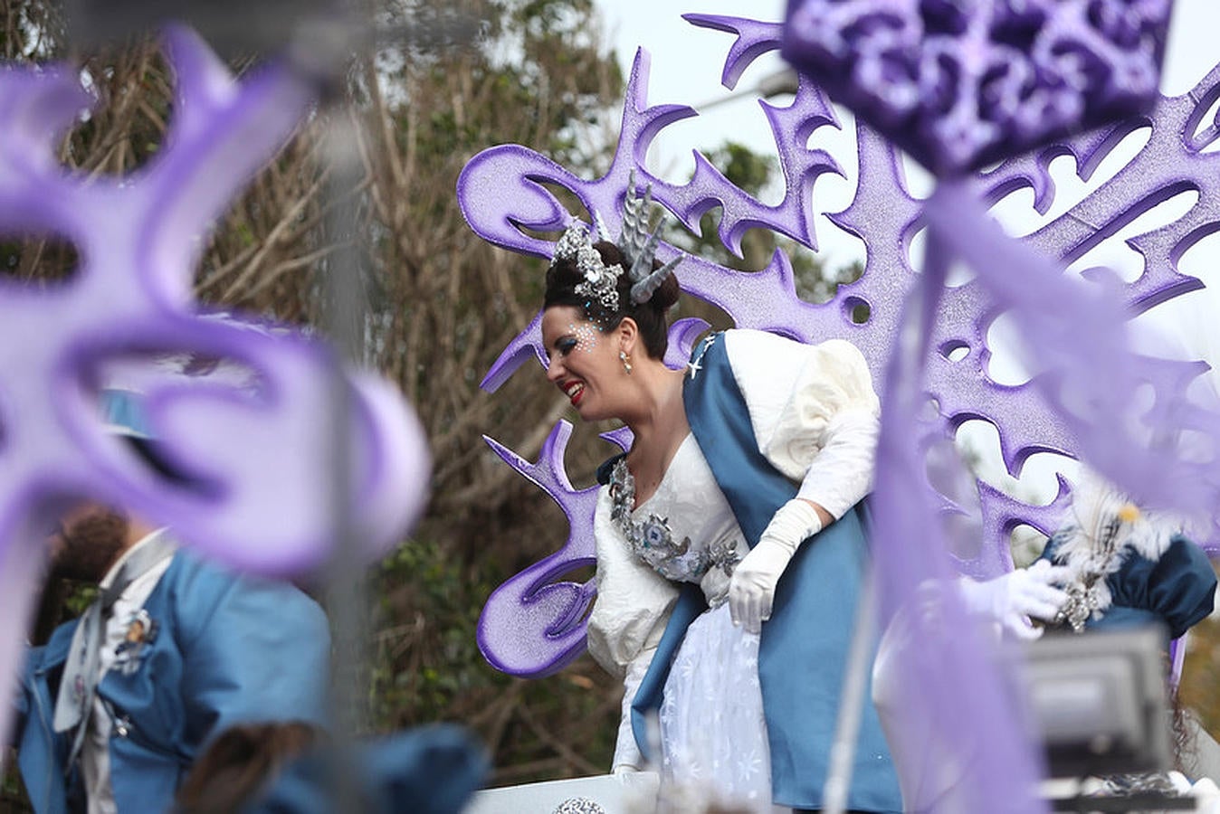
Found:
<svg viewBox="0 0 1220 814"><path fill-rule="evenodd" d="M576 306L551 306L542 316L547 379L586 420L615 418L615 398L626 369L619 358L619 331L603 334Z"/></svg>

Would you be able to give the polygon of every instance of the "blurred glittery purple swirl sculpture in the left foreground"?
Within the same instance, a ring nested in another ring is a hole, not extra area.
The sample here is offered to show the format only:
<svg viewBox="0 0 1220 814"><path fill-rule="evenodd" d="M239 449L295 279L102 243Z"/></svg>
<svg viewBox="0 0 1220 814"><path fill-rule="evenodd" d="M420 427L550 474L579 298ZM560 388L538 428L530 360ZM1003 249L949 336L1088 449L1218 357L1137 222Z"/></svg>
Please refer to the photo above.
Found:
<svg viewBox="0 0 1220 814"><path fill-rule="evenodd" d="M310 108L285 63L235 82L187 29L167 37L174 119L154 161L85 178L55 158L93 100L68 66L0 72L0 228L55 235L81 257L66 283L0 279L0 675L16 675L43 545L65 501L124 506L210 556L287 574L326 562L334 484L350 483L354 536L372 557L423 503L428 457L414 414L387 384L343 372L318 341L198 316L194 267L227 202ZM228 359L253 384L145 370L152 433L199 487L159 478L101 420L98 391L133 357ZM328 416L349 405L351 478L333 472ZM0 708L5 729L9 706Z"/></svg>

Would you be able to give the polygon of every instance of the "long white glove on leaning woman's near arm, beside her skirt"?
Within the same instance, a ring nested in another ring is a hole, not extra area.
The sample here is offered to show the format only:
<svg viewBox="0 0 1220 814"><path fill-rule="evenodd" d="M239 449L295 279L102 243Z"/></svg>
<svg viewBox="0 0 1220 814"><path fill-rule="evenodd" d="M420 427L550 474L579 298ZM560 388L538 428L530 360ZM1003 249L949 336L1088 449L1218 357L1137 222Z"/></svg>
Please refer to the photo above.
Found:
<svg viewBox="0 0 1220 814"><path fill-rule="evenodd" d="M780 507L728 581L728 613L734 625L750 634L762 630L762 623L771 618L775 586L788 561L802 540L821 530L822 522L809 502L793 498Z"/></svg>

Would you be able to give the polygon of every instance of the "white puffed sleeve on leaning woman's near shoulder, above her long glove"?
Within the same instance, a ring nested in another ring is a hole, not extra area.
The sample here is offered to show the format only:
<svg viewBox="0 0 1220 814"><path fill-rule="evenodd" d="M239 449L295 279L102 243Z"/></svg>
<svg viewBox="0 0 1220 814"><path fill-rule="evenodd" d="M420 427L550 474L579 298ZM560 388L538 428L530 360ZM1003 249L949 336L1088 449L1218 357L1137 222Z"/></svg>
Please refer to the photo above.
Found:
<svg viewBox="0 0 1220 814"><path fill-rule="evenodd" d="M850 342L817 345L758 330L726 334L759 450L836 519L872 487L881 402Z"/></svg>

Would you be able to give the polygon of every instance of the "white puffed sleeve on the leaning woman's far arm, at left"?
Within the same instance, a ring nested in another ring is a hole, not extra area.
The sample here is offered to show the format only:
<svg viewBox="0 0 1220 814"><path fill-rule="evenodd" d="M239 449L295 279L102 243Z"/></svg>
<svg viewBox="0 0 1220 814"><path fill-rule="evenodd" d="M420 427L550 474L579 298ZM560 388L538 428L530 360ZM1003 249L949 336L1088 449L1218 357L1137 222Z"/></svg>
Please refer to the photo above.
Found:
<svg viewBox="0 0 1220 814"><path fill-rule="evenodd" d="M661 640L678 589L631 553L622 531L610 520L609 486L598 491L593 529L598 596L589 614L589 653L608 673L623 679L628 667Z"/></svg>

